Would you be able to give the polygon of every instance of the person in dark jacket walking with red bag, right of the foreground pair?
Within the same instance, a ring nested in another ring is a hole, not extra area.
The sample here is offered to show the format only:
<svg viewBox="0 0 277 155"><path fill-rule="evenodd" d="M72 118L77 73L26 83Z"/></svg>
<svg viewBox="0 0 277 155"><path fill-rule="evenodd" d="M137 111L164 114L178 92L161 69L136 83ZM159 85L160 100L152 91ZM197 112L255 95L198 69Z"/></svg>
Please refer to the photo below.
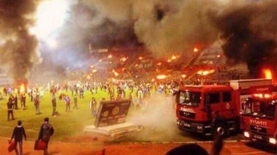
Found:
<svg viewBox="0 0 277 155"><path fill-rule="evenodd" d="M38 140L46 143L46 148L44 150L44 155L48 155L48 143L50 141L50 137L54 134L54 128L51 124L49 124L49 118L44 118L44 123L42 124Z"/></svg>

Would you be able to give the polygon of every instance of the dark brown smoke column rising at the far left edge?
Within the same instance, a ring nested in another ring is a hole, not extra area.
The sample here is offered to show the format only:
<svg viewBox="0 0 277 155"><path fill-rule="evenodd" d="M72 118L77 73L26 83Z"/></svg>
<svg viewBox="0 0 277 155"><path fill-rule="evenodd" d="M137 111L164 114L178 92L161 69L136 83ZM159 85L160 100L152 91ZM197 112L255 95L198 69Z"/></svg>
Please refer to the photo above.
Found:
<svg viewBox="0 0 277 155"><path fill-rule="evenodd" d="M38 40L29 33L36 8L36 0L0 1L0 65L15 83L26 81L33 65L41 61Z"/></svg>

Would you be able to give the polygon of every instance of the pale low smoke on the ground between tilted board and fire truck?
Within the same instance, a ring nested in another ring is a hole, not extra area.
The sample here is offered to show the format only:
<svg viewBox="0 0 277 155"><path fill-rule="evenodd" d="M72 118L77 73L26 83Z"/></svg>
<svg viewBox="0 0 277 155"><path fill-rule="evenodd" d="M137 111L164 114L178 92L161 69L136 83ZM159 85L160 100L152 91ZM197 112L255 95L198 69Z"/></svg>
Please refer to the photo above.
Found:
<svg viewBox="0 0 277 155"><path fill-rule="evenodd" d="M178 128L176 127L175 109L172 97L152 96L144 99L141 110L131 112L128 122L143 125L141 132L130 135L135 141L173 141L178 139ZM179 135L180 136L180 135Z"/></svg>

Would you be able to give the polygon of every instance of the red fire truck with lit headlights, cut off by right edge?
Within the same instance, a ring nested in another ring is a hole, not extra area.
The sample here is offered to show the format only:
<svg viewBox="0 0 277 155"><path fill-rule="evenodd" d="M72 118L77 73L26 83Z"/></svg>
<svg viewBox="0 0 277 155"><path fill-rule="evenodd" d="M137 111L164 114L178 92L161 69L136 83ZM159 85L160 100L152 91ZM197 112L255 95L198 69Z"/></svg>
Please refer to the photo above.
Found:
<svg viewBox="0 0 277 155"><path fill-rule="evenodd" d="M249 111L244 111L241 116L244 137L252 142L262 142L276 146L276 103L277 96L270 92L254 94L253 98L247 100L246 105L250 107Z"/></svg>

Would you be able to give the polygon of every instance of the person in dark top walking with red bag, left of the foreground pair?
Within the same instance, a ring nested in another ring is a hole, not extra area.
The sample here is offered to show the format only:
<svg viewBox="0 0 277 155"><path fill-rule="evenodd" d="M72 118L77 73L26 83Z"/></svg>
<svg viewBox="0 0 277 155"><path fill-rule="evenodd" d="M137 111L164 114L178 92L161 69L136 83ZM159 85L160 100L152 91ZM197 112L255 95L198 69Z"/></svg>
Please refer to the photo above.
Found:
<svg viewBox="0 0 277 155"><path fill-rule="evenodd" d="M22 122L18 121L17 122L17 127L14 128L14 132L13 132L13 135L11 137L11 141L14 139L15 154L16 155L22 155L22 152L23 152L23 148L22 148L23 136L24 136L24 139L26 141L25 129L24 129L24 127L22 127ZM19 144L19 152L18 152L17 144Z"/></svg>

